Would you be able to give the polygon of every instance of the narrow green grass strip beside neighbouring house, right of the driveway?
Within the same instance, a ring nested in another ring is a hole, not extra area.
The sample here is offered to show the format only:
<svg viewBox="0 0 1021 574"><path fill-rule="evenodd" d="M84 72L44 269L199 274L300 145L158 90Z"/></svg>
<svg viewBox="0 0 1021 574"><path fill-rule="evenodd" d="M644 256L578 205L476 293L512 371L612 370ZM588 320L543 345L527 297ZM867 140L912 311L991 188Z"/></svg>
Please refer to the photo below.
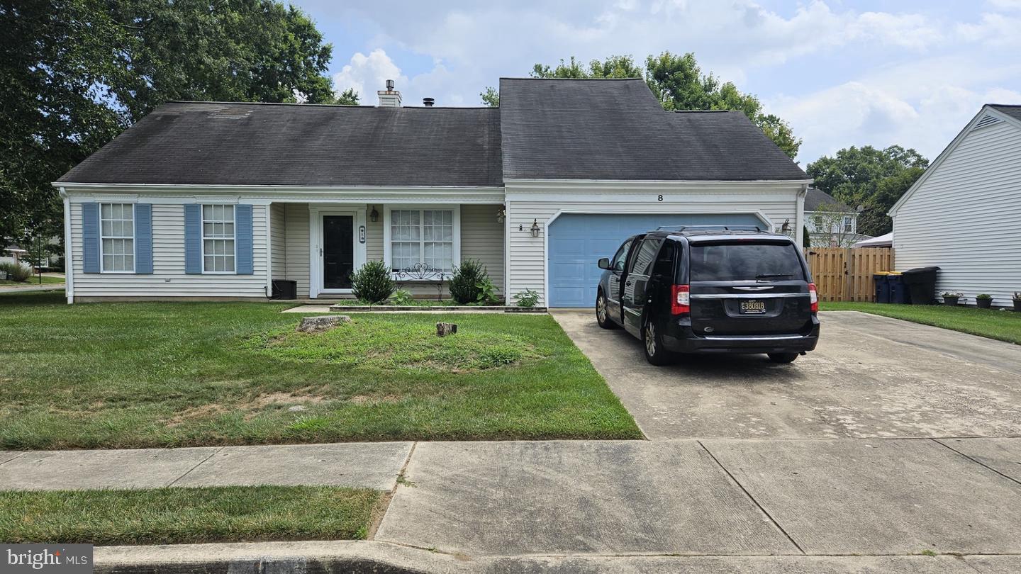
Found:
<svg viewBox="0 0 1021 574"><path fill-rule="evenodd" d="M1021 313L946 305L824 302L822 310L860 310L1021 344Z"/></svg>

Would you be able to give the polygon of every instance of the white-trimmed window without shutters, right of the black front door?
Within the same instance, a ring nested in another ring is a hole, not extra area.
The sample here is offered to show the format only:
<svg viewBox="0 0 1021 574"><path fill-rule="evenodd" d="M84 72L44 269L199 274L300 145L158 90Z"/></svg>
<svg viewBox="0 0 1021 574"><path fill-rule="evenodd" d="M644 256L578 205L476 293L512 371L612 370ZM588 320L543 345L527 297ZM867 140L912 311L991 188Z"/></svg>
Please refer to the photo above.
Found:
<svg viewBox="0 0 1021 574"><path fill-rule="evenodd" d="M403 271L422 262L450 273L454 265L453 227L451 209L392 209L390 266Z"/></svg>

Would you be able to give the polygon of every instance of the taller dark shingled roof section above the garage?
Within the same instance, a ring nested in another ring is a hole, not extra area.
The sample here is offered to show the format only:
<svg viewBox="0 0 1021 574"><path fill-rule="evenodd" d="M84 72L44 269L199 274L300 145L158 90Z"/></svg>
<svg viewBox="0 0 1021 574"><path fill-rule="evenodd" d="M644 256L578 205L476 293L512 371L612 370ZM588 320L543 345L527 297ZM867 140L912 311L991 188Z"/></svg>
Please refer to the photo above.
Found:
<svg viewBox="0 0 1021 574"><path fill-rule="evenodd" d="M664 111L643 80L500 79L503 179L808 180L739 111Z"/></svg>

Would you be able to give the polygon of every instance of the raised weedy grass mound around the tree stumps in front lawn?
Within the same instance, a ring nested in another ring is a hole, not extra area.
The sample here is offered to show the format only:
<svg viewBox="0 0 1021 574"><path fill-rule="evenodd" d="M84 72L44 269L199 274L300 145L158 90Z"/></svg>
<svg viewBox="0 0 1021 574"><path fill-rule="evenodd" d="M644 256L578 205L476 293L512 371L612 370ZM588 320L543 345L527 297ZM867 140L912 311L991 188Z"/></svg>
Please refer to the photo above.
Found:
<svg viewBox="0 0 1021 574"><path fill-rule="evenodd" d="M479 371L543 356L521 334L466 328L437 337L436 320L421 315L355 316L324 333L283 327L252 336L246 347L282 360L422 373Z"/></svg>

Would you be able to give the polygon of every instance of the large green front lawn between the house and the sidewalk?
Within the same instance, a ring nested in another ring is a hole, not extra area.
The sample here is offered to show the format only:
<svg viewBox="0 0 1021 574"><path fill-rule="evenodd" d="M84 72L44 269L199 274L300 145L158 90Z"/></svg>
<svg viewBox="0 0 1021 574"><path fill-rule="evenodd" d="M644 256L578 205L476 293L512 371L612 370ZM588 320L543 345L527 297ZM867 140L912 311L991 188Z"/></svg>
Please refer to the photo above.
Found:
<svg viewBox="0 0 1021 574"><path fill-rule="evenodd" d="M352 314L306 335L285 307L0 295L0 447L641 438L548 316Z"/></svg>

